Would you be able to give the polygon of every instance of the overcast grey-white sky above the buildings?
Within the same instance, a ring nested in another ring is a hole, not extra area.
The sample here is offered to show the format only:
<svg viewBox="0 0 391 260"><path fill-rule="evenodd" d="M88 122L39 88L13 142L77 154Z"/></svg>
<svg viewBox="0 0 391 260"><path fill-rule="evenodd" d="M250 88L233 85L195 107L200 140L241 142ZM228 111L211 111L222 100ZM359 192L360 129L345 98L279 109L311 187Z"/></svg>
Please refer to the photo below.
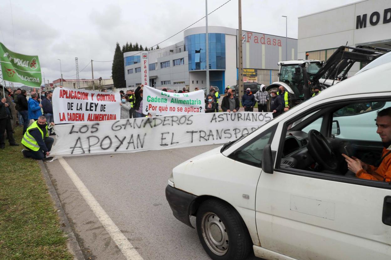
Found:
<svg viewBox="0 0 391 260"><path fill-rule="evenodd" d="M228 0L209 0L208 12ZM205 15L203 0L2 0L0 41L14 52L38 55L46 81L75 79L91 59L111 61L115 44L131 41L151 47ZM242 29L297 38L298 17L355 0L242 0ZM238 1L231 0L208 16L209 25L238 28ZM193 25L204 26L205 20ZM160 47L183 40L183 33ZM94 62L94 78L109 78L111 62ZM91 78L88 65L80 78Z"/></svg>

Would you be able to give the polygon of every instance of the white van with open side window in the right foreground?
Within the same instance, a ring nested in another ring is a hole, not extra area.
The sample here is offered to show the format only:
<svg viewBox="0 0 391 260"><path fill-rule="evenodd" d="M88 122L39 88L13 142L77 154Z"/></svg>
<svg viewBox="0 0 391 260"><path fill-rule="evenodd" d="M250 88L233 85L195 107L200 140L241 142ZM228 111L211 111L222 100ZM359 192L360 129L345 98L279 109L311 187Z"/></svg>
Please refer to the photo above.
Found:
<svg viewBox="0 0 391 260"><path fill-rule="evenodd" d="M383 57L388 58L391 53ZM345 176L348 152L383 149L391 62L365 70L257 130L172 170L166 197L212 259L390 260L391 185Z"/></svg>

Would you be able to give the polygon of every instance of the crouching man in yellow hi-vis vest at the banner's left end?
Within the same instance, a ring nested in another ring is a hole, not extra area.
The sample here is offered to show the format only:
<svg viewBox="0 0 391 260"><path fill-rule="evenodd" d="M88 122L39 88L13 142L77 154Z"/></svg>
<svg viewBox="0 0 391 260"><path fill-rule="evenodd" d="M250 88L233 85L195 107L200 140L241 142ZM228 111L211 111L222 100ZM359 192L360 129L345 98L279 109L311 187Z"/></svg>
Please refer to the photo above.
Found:
<svg viewBox="0 0 391 260"><path fill-rule="evenodd" d="M54 123L50 123L54 126ZM36 160L51 160L49 152L52 149L54 139L49 137L48 125L46 117L40 116L38 120L27 128L23 135L22 144L26 149L22 150L25 158L33 158Z"/></svg>

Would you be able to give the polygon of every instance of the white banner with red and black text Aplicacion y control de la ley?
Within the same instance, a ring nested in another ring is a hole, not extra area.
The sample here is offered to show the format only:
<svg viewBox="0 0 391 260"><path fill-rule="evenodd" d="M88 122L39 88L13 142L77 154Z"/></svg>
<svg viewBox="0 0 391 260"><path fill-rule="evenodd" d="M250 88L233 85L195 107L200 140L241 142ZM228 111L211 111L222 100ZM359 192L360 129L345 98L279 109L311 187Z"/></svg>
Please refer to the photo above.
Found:
<svg viewBox="0 0 391 260"><path fill-rule="evenodd" d="M55 124L120 119L120 93L55 88L52 96Z"/></svg>

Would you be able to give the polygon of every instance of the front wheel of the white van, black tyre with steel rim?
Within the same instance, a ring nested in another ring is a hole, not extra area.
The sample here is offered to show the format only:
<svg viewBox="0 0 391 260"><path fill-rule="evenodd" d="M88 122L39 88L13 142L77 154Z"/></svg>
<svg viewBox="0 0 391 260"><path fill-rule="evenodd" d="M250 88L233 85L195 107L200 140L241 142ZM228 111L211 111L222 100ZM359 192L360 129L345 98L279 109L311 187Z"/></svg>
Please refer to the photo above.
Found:
<svg viewBox="0 0 391 260"><path fill-rule="evenodd" d="M252 247L246 224L230 204L204 201L197 210L199 240L213 260L243 260Z"/></svg>

